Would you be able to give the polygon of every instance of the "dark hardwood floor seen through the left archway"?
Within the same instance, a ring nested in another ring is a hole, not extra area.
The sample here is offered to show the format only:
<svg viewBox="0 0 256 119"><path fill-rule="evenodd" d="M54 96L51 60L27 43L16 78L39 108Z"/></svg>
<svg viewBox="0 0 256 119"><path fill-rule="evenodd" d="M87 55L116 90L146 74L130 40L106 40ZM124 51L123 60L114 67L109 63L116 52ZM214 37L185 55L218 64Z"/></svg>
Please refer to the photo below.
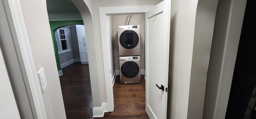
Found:
<svg viewBox="0 0 256 119"><path fill-rule="evenodd" d="M62 68L62 72L60 85L67 119L93 119L88 64L75 62Z"/></svg>

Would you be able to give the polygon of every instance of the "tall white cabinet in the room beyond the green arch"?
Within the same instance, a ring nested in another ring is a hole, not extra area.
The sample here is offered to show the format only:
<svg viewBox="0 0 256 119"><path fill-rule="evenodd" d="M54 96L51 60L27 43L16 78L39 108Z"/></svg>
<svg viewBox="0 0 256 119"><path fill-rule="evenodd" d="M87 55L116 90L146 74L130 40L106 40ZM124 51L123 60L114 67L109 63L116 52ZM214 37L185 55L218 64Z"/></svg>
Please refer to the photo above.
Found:
<svg viewBox="0 0 256 119"><path fill-rule="evenodd" d="M85 38L84 25L76 25L76 33L78 39L78 47L80 54L80 61L83 64L88 63L87 45Z"/></svg>

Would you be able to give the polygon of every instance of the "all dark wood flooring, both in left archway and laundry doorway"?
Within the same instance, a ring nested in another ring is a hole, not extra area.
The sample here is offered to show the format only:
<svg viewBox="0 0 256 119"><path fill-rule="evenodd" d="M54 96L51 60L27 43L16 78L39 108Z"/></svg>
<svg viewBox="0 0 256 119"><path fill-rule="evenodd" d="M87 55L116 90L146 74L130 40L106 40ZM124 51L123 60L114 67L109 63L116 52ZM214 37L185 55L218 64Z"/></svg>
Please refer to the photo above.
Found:
<svg viewBox="0 0 256 119"><path fill-rule="evenodd" d="M60 76L67 119L93 119L92 93L88 64L75 62L62 68ZM114 112L95 119L149 119L145 112L145 80L141 84L114 84Z"/></svg>

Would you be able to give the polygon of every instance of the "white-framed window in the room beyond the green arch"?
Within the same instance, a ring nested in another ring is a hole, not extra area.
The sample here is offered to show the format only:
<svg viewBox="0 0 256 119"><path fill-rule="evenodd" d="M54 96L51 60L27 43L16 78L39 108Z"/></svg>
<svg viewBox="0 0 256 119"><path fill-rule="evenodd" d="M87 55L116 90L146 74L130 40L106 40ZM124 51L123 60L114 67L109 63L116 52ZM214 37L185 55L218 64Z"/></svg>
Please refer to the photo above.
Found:
<svg viewBox="0 0 256 119"><path fill-rule="evenodd" d="M71 51L68 39L68 28L62 27L56 30L56 41L58 46L58 53L67 53Z"/></svg>

